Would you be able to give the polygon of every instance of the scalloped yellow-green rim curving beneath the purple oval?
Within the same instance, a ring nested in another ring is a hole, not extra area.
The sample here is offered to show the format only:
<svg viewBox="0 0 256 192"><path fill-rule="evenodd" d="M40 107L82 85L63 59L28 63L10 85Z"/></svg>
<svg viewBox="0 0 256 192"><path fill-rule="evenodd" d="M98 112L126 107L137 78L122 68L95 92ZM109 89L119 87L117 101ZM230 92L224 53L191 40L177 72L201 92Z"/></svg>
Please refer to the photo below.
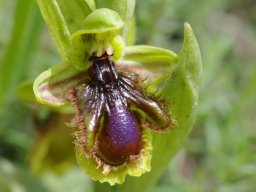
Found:
<svg viewBox="0 0 256 192"><path fill-rule="evenodd" d="M75 152L77 163L84 172L89 174L95 181L101 183L108 182L110 185L122 184L125 181L127 174L139 177L151 169L152 136L149 129L146 127L143 127L142 140L144 146L141 150L140 157L136 162L128 162L120 166L114 166L107 172L104 170L104 165L98 166L95 158L85 155L83 146L76 143Z"/></svg>

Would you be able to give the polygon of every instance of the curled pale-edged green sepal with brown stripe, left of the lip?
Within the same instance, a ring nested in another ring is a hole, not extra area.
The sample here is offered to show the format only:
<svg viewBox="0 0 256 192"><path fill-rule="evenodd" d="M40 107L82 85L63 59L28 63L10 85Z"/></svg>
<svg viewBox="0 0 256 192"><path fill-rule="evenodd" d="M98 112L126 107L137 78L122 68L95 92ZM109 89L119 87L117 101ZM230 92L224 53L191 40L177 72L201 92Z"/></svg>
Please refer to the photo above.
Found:
<svg viewBox="0 0 256 192"><path fill-rule="evenodd" d="M87 79L87 73L66 63L56 65L35 80L33 90L41 104L62 107L67 104L68 91Z"/></svg>

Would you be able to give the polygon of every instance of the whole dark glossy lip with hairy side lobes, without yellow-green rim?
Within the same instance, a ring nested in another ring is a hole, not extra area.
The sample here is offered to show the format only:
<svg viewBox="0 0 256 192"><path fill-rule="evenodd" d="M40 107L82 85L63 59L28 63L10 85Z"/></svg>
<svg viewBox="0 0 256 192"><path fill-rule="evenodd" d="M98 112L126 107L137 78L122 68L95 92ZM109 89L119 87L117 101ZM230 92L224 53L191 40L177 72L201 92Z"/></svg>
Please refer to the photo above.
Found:
<svg viewBox="0 0 256 192"><path fill-rule="evenodd" d="M88 80L68 97L76 109L76 144L99 164L136 161L144 146L143 129L163 131L173 123L166 103L147 95L137 74L117 71L107 53L90 60Z"/></svg>

